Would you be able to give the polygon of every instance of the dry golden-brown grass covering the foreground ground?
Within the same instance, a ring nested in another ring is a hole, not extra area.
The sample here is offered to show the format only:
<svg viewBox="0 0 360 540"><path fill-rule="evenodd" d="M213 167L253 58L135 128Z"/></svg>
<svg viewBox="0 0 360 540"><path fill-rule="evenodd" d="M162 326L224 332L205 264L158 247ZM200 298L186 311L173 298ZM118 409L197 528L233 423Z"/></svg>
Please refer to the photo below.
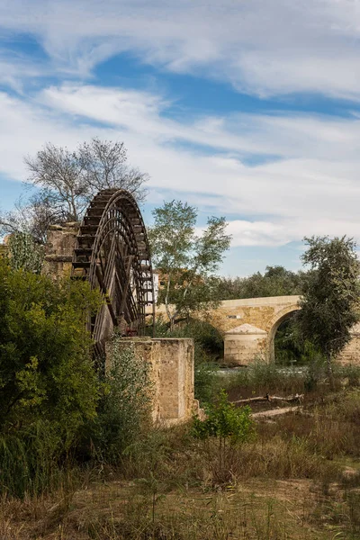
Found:
<svg viewBox="0 0 360 540"><path fill-rule="evenodd" d="M229 378L234 399L303 392L307 374L274 366ZM3 540L354 540L360 537L356 370L323 374L302 413L257 422L255 439L198 440L154 428L121 463L68 472L42 495L0 501Z"/></svg>

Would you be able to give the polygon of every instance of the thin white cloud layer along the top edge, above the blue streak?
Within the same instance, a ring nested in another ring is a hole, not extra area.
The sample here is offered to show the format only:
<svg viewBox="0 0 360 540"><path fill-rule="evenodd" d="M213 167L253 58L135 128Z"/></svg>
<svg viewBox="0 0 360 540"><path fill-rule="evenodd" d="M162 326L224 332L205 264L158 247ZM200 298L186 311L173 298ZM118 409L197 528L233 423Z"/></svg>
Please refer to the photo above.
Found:
<svg viewBox="0 0 360 540"><path fill-rule="evenodd" d="M357 0L3 0L0 30L30 32L54 67L82 76L131 51L249 93L360 97Z"/></svg>

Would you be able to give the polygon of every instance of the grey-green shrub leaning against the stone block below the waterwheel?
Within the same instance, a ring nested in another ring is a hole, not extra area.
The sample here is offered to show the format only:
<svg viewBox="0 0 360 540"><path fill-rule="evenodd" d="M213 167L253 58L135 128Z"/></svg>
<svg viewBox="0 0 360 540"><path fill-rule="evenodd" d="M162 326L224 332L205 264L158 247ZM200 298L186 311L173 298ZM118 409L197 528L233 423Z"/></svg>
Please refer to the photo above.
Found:
<svg viewBox="0 0 360 540"><path fill-rule="evenodd" d="M149 366L135 355L133 347L121 347L115 335L107 357L110 368L103 375L97 416L85 425L97 460L116 464L134 443L149 417L152 383Z"/></svg>

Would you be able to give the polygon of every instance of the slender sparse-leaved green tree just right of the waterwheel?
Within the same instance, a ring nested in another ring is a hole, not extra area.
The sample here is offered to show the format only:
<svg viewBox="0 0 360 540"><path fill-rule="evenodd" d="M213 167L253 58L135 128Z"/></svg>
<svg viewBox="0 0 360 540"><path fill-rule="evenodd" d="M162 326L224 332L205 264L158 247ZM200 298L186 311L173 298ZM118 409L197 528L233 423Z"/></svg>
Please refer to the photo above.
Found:
<svg viewBox="0 0 360 540"><path fill-rule="evenodd" d="M197 235L197 211L187 202L164 202L153 216L148 237L155 266L165 281L158 302L165 303L173 329L179 318L218 303L213 273L229 248L230 236L225 233L227 223L222 217L208 218L206 229Z"/></svg>

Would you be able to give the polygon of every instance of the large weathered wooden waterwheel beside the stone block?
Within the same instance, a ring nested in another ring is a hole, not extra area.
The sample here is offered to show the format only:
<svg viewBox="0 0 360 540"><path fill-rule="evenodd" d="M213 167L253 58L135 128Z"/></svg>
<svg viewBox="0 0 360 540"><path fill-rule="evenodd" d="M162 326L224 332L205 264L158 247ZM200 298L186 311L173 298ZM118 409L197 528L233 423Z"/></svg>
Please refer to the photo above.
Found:
<svg viewBox="0 0 360 540"><path fill-rule="evenodd" d="M88 281L105 299L88 320L96 355L115 327L121 335L143 335L148 305L155 320L147 231L129 192L106 189L94 196L76 238L72 277Z"/></svg>

